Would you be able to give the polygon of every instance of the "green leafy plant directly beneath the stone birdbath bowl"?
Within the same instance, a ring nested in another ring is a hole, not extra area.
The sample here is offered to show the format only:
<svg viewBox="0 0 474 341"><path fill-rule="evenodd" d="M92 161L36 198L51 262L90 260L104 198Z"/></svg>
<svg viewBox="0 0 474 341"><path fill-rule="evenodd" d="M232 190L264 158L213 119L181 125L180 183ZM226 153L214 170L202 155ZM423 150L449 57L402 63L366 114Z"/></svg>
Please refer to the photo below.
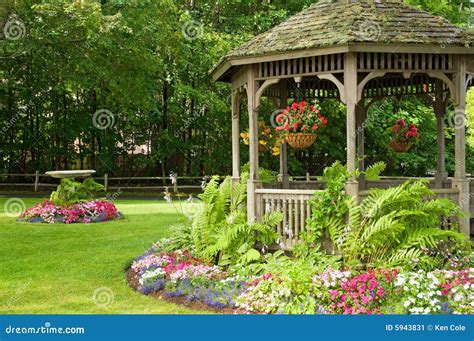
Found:
<svg viewBox="0 0 474 341"><path fill-rule="evenodd" d="M51 193L50 200L58 206L69 206L80 201L90 201L105 190L92 178L85 179L82 183L73 179L61 179L56 191Z"/></svg>

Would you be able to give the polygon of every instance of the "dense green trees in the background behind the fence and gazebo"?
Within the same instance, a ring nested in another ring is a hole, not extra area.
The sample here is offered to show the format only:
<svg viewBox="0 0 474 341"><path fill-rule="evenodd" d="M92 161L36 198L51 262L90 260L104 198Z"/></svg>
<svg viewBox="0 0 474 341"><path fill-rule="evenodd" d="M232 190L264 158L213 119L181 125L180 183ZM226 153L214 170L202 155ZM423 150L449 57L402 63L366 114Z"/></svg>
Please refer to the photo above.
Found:
<svg viewBox="0 0 474 341"><path fill-rule="evenodd" d="M227 51L313 2L2 1L0 173L79 167L113 175L229 173L230 89L208 72ZM467 22L467 0L409 2ZM388 155L380 142L394 106L413 113L425 132L405 156ZM320 173L345 158L344 108L329 102L325 109L331 128L317 147L290 157L293 174ZM435 120L425 103L385 101L371 115L377 119L367 127L369 161L385 160L388 172L402 174L433 169ZM447 137L452 169L449 130ZM242 154L245 160L244 147ZM262 160L276 169L278 158Z"/></svg>

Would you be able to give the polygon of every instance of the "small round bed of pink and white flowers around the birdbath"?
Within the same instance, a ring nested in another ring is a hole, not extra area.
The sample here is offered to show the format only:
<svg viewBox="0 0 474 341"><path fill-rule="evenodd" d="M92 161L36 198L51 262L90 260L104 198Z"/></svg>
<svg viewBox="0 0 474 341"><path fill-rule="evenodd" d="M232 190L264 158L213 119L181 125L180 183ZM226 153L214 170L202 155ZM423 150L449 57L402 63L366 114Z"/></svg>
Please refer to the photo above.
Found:
<svg viewBox="0 0 474 341"><path fill-rule="evenodd" d="M117 207L106 200L94 200L88 202L78 202L69 206L58 206L50 200L24 211L18 221L29 223L100 223L122 217L122 213Z"/></svg>

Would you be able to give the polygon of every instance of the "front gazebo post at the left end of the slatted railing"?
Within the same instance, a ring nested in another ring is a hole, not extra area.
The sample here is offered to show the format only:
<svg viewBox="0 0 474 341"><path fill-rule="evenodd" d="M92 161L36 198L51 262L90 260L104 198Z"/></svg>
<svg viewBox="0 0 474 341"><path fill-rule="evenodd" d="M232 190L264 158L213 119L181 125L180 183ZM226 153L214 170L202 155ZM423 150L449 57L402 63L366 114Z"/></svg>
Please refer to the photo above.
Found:
<svg viewBox="0 0 474 341"><path fill-rule="evenodd" d="M256 104L256 93L258 83L255 80L256 67L250 65L247 67L247 98L249 113L249 161L250 174L247 183L247 218L249 221L256 219L256 195L255 190L258 188L258 108Z"/></svg>

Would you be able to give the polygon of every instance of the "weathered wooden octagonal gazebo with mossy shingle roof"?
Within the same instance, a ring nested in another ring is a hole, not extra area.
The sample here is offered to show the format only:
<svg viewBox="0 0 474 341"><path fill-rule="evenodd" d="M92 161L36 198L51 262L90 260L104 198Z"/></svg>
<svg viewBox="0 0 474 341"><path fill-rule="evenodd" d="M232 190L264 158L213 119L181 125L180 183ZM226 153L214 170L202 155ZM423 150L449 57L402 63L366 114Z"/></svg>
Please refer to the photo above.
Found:
<svg viewBox="0 0 474 341"><path fill-rule="evenodd" d="M291 247L310 214L307 200L314 190L298 189L301 185L289 181L286 145L281 148L278 187L265 188L258 174L260 101L268 97L286 108L288 98L297 93L320 101L336 98L346 105L347 168L351 173L365 169L364 122L372 103L389 96L429 96L437 119L438 145L431 186L438 196L459 202L461 209L469 212L472 189L466 175L465 110L467 88L474 76L473 41L468 31L401 0L320 0L223 57L212 75L232 84L234 180L240 176L240 107L247 98L248 219L259 219L269 210L283 211L284 221L278 230ZM448 100L456 109L452 179L445 170ZM352 178L346 192L359 198L371 187L399 183L397 179L381 183ZM459 219L462 232L469 235L469 215ZM291 238L283 232L288 230Z"/></svg>

